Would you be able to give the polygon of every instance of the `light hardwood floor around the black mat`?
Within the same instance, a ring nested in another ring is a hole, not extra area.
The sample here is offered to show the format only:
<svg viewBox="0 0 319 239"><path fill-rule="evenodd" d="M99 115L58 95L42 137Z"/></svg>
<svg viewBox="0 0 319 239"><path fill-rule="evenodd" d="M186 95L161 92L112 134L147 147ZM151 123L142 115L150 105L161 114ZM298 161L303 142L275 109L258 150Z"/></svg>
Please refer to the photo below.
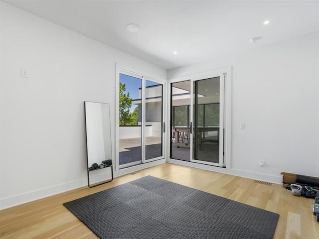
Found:
<svg viewBox="0 0 319 239"><path fill-rule="evenodd" d="M82 187L2 210L0 238L97 238L62 204L147 175L278 213L275 239L319 239L319 223L312 213L314 199L293 196L277 184L269 186L252 179L169 163L115 178L95 188Z"/></svg>

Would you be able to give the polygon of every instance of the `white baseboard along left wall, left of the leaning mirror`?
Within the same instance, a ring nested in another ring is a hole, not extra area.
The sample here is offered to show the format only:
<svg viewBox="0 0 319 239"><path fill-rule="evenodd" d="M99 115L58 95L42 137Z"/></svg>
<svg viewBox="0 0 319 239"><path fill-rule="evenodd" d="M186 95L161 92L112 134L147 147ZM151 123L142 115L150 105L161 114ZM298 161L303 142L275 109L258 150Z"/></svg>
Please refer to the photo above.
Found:
<svg viewBox="0 0 319 239"><path fill-rule="evenodd" d="M0 199L0 210L86 186L87 178Z"/></svg>

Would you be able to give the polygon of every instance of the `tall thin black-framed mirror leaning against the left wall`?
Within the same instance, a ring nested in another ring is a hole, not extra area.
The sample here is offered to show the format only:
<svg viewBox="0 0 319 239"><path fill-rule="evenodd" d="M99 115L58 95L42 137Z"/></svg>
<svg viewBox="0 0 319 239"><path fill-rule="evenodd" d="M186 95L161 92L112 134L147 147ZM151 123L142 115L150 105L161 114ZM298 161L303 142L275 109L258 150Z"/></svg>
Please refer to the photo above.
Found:
<svg viewBox="0 0 319 239"><path fill-rule="evenodd" d="M110 106L85 102L88 185L97 186L113 179Z"/></svg>

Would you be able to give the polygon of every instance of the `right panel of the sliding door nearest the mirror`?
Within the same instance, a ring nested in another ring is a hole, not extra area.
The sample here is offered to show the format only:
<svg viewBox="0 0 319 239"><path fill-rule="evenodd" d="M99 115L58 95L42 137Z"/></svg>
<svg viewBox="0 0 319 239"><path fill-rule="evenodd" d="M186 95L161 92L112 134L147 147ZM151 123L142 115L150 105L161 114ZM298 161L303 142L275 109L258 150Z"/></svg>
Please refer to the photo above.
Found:
<svg viewBox="0 0 319 239"><path fill-rule="evenodd" d="M145 82L145 161L163 157L163 85Z"/></svg>

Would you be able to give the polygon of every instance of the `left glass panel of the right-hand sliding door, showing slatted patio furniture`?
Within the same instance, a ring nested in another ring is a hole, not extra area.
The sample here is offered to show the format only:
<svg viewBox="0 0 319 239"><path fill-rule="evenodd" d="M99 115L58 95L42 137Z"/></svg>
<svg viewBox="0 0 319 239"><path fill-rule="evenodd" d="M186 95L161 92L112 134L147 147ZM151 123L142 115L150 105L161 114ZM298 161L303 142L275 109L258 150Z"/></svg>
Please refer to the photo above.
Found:
<svg viewBox="0 0 319 239"><path fill-rule="evenodd" d="M190 80L170 84L170 158L190 161Z"/></svg>

